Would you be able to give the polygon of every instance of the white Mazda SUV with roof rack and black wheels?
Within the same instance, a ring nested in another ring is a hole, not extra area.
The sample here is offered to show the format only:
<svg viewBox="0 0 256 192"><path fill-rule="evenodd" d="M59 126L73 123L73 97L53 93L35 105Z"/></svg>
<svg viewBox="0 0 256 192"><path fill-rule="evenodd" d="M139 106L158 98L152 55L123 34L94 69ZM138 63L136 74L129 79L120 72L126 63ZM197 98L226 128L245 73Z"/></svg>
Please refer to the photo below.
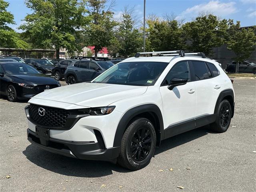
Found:
<svg viewBox="0 0 256 192"><path fill-rule="evenodd" d="M170 51L138 53L90 83L43 92L29 103L25 111L32 144L138 170L150 163L161 140L207 124L225 132L235 97L217 62Z"/></svg>

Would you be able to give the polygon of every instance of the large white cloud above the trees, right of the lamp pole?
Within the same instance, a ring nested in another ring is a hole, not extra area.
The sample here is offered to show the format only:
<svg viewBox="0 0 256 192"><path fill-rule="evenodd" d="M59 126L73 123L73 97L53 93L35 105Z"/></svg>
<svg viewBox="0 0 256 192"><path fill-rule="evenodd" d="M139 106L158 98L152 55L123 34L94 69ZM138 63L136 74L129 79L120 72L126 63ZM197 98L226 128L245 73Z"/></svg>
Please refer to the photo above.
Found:
<svg viewBox="0 0 256 192"><path fill-rule="evenodd" d="M220 1L210 1L187 8L179 17L188 18L197 16L201 12L212 13L217 16L226 16L237 12L236 2L222 3Z"/></svg>

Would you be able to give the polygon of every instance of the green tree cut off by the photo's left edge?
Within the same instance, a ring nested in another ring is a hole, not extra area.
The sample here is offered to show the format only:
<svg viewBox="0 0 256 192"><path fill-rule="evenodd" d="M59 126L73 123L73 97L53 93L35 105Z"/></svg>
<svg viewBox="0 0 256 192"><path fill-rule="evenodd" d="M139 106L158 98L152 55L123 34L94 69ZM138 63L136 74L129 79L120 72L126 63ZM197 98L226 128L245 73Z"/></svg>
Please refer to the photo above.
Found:
<svg viewBox="0 0 256 192"><path fill-rule="evenodd" d="M14 16L6 11L8 6L8 2L0 0L0 47L28 48L28 43L21 40L19 34L7 26L7 24L15 24Z"/></svg>

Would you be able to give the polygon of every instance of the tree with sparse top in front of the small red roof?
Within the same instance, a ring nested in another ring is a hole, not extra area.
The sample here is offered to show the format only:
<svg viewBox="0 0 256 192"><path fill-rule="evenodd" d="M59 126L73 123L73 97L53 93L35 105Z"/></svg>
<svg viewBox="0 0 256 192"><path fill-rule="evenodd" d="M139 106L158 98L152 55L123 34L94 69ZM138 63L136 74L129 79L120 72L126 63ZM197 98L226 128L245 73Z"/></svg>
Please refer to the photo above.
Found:
<svg viewBox="0 0 256 192"><path fill-rule="evenodd" d="M109 3L107 7L106 4ZM95 46L95 56L103 47L111 45L114 38L114 26L117 23L112 19L114 0L88 0L88 16L91 21L88 25L84 26L86 44L88 46Z"/></svg>

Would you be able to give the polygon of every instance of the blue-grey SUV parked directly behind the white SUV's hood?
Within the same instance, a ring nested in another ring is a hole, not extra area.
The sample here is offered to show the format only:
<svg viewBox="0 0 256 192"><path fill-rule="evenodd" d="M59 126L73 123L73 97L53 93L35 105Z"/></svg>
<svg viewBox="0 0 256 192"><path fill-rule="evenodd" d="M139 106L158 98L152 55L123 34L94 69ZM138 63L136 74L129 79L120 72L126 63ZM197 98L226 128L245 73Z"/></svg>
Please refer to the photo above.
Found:
<svg viewBox="0 0 256 192"><path fill-rule="evenodd" d="M76 60L66 69L65 81L67 84L91 81L112 66L114 66L112 62L104 60Z"/></svg>

